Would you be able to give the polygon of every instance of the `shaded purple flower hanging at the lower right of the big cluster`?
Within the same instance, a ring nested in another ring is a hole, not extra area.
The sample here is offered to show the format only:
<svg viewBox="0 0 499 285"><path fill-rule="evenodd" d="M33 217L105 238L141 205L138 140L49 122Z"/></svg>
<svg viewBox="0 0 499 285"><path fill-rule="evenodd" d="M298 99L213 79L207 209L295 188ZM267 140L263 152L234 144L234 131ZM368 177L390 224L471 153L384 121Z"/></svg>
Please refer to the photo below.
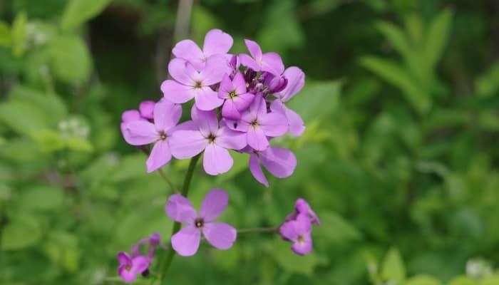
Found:
<svg viewBox="0 0 499 285"><path fill-rule="evenodd" d="M297 157L291 150L272 146L260 152L249 153L249 171L254 179L269 187L260 162L274 177L284 178L293 174L294 168L297 166Z"/></svg>

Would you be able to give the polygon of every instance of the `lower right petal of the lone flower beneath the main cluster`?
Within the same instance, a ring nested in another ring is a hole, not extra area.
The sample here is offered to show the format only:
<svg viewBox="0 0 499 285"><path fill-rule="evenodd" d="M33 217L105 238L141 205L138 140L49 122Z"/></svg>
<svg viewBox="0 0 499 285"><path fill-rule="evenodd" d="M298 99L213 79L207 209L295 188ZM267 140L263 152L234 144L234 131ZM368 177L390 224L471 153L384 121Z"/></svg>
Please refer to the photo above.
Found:
<svg viewBox="0 0 499 285"><path fill-rule="evenodd" d="M230 249L237 238L236 229L222 222L205 223L202 234L213 247L222 250Z"/></svg>

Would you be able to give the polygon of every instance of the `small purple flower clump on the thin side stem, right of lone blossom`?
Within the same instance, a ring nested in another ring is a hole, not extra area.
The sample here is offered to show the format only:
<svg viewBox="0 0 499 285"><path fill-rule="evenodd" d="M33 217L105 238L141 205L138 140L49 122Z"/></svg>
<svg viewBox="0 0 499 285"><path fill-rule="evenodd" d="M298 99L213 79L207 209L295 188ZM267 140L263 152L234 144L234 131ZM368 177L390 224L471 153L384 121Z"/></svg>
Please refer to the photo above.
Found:
<svg viewBox="0 0 499 285"><path fill-rule="evenodd" d="M294 204L294 213L286 217L279 233L282 239L293 242L291 249L294 253L305 255L312 252L312 224L319 225L319 218L309 203L299 198Z"/></svg>

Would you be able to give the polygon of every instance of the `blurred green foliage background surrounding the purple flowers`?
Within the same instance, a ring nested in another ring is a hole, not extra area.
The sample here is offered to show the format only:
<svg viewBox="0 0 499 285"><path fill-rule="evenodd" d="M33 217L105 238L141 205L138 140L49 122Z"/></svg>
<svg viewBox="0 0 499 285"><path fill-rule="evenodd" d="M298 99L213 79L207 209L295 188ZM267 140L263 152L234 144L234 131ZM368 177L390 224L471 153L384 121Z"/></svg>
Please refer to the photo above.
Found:
<svg viewBox="0 0 499 285"><path fill-rule="evenodd" d="M177 6L0 1L0 284L118 283L117 252L168 239L170 190L119 123L162 95ZM275 140L292 177L266 189L235 155L218 177L198 167L192 201L227 190L221 219L245 228L304 197L321 226L307 257L240 234L176 257L165 284L499 284L498 1L194 1L188 37L211 28L302 68L289 105L307 131ZM180 186L186 167L165 171Z"/></svg>

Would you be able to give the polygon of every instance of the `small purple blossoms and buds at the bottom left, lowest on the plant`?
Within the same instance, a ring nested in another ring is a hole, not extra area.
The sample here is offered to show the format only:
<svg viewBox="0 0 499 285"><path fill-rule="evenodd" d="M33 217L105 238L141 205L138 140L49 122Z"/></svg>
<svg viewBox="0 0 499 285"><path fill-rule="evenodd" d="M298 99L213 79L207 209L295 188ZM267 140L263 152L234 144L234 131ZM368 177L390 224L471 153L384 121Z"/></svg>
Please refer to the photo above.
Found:
<svg viewBox="0 0 499 285"><path fill-rule="evenodd" d="M144 256L140 252L140 246L148 244L148 254ZM154 252L156 247L160 245L160 234L151 234L150 237L145 239L140 239L137 244L133 244L131 248L131 256L126 252L118 253L118 261L120 266L118 267L118 274L121 276L123 281L129 283L137 279L137 274L142 274L144 276L149 273L149 265L153 262Z"/></svg>

